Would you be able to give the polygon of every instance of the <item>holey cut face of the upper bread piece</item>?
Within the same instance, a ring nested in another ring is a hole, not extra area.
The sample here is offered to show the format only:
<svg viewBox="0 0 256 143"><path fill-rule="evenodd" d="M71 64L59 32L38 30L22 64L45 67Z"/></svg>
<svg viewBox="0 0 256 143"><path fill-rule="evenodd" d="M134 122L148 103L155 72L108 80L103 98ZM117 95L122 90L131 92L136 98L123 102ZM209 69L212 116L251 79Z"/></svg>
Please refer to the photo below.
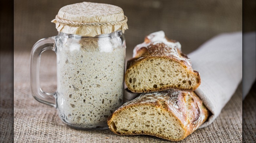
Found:
<svg viewBox="0 0 256 143"><path fill-rule="evenodd" d="M201 83L199 72L186 68L182 62L168 57L146 57L125 73L125 82L132 92L165 89L194 91Z"/></svg>

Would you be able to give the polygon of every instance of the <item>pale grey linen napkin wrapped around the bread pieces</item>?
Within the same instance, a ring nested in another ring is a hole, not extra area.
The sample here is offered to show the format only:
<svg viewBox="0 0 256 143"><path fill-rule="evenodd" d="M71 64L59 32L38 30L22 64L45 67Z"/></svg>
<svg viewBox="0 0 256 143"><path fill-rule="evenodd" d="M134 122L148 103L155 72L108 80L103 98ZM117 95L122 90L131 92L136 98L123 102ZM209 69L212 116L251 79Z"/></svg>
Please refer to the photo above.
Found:
<svg viewBox="0 0 256 143"><path fill-rule="evenodd" d="M242 32L218 35L188 57L193 69L199 71L201 76L201 85L195 93L212 113L199 127L203 128L219 116L242 80ZM125 102L138 95L128 89L124 93Z"/></svg>

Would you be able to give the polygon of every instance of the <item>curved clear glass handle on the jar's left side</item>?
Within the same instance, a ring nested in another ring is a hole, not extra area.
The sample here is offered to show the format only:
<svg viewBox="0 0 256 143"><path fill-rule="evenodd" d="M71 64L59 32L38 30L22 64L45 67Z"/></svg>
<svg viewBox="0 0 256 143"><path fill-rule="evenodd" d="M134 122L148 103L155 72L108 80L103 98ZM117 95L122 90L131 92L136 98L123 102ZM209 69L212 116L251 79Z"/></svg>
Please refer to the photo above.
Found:
<svg viewBox="0 0 256 143"><path fill-rule="evenodd" d="M41 54L46 50L53 50L56 53L55 39L56 36L41 39L32 48L30 55L30 89L35 100L57 108L57 92L44 92L39 82Z"/></svg>

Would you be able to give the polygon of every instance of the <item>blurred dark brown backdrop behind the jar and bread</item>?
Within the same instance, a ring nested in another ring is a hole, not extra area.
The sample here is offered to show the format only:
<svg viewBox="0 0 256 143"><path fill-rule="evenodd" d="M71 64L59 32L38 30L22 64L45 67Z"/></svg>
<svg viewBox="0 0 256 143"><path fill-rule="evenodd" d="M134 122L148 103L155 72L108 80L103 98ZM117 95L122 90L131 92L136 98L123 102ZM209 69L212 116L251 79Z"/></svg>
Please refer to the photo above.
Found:
<svg viewBox="0 0 256 143"><path fill-rule="evenodd" d="M129 27L125 32L127 58L132 56L134 46L143 42L145 35L159 30L163 30L168 38L180 41L185 54L219 33L242 31L242 0L89 1L113 4L123 9ZM83 1L15 0L15 52L29 52L37 40L57 35L51 20L61 7L78 2Z"/></svg>

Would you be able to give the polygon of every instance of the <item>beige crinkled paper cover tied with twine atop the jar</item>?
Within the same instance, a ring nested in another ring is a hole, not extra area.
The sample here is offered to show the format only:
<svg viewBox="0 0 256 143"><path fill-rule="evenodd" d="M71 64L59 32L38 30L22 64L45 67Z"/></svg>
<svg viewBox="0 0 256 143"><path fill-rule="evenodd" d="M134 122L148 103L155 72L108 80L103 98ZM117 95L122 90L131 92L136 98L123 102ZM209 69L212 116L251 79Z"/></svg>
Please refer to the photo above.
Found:
<svg viewBox="0 0 256 143"><path fill-rule="evenodd" d="M128 29L127 17L122 8L91 2L60 8L52 23L56 24L59 32L92 37Z"/></svg>

